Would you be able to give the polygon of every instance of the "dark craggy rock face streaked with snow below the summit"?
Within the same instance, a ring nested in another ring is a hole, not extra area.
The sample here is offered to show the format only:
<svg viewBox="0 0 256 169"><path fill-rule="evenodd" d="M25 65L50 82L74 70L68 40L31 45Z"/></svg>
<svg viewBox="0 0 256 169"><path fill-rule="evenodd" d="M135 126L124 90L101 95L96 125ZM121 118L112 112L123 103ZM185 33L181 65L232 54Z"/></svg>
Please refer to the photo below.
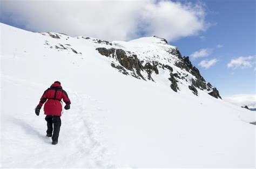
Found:
<svg viewBox="0 0 256 169"><path fill-rule="evenodd" d="M164 41L164 39L163 39ZM165 41L164 41L165 42ZM103 41L99 41L97 43L103 43ZM107 43L104 41L104 43ZM167 42L165 42L167 43ZM188 82L189 79L185 78L188 76L186 72L191 73L194 77L191 79L191 85L188 86L188 89L190 89L196 96L198 96L198 89L200 90L207 90L212 97L215 98L220 98L219 91L213 87L210 83L205 82L205 79L200 75L199 70L197 67L193 66L190 58L187 57L182 57L178 48L175 49L170 49L169 52L171 55L174 55L178 57L178 62L175 63L177 67L180 69L183 69L186 71L185 73L182 72L177 72L177 73L172 73L173 68L170 65L165 65L162 63L158 63L156 61L152 62L145 62L145 60L140 61L134 53L130 51L125 51L123 49L116 49L116 48L97 48L96 49L101 55L106 56L106 57L111 57L113 59L116 59L118 63L111 63L111 66L117 69L119 72L122 72L124 75L131 75L133 77L136 77L138 79L143 79L143 80L152 80L152 73L155 72L157 75L159 74L158 69L167 69L170 71L170 78L168 78L171 81L171 89L175 92L179 90L178 87L178 79L185 80ZM144 64L144 66L143 66ZM142 74L142 71L145 71L147 74L147 77L144 77L145 75ZM181 75L182 74L182 75ZM144 75L144 76L143 76ZM185 77L184 77L185 76ZM180 82L181 83L181 82ZM198 89L196 89L198 88ZM211 92L210 92L211 91Z"/></svg>

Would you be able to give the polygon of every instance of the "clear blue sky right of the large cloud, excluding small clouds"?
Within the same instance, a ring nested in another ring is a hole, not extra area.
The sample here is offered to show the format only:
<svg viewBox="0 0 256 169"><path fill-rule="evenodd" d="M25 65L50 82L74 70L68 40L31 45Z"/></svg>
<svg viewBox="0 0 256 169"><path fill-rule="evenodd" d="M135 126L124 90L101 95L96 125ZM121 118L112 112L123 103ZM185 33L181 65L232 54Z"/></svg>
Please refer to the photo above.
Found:
<svg viewBox="0 0 256 169"><path fill-rule="evenodd" d="M206 58L191 59L206 80L217 86L221 94L252 94L255 92L254 67L232 69L231 59L255 56L255 1L204 1L206 21L212 23L199 36L181 38L172 42L182 55L190 56L199 49L211 48ZM214 24L215 23L215 24ZM203 36L203 39L200 38ZM218 44L222 48L216 48ZM219 62L208 69L198 66L203 59L218 58ZM255 58L251 60L255 62Z"/></svg>

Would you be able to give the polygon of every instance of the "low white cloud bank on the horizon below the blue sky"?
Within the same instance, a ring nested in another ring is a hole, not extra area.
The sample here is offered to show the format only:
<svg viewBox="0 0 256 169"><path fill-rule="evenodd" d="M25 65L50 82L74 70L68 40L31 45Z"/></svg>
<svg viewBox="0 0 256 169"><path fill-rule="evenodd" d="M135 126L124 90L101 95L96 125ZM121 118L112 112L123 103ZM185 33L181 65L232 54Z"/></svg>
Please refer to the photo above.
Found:
<svg viewBox="0 0 256 169"><path fill-rule="evenodd" d="M242 105L256 105L256 94L235 94L231 96L222 97L226 102L242 106Z"/></svg>

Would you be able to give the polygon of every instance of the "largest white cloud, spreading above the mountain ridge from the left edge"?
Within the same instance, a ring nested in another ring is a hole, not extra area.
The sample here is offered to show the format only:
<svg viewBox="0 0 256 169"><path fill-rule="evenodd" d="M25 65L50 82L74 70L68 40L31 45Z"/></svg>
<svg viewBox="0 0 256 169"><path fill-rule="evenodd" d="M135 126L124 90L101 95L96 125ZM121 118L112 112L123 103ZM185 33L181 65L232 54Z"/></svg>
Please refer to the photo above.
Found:
<svg viewBox="0 0 256 169"><path fill-rule="evenodd" d="M4 21L38 32L106 40L160 36L167 40L207 29L202 3L172 1L1 1Z"/></svg>

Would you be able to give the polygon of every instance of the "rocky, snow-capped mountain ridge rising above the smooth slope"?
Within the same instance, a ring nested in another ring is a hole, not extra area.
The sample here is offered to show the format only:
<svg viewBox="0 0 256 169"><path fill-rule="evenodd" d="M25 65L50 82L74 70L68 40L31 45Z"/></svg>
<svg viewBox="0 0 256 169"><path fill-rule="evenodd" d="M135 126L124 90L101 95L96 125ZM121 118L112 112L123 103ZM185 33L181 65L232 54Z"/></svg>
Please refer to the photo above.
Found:
<svg viewBox="0 0 256 169"><path fill-rule="evenodd" d="M42 35L65 40L71 38L63 33L47 32ZM129 42L108 42L84 36L75 38L96 44L96 50L101 55L112 58L111 66L124 75L155 82L153 77L160 73L166 81L170 80L168 85L174 92L180 91L180 85L185 85L196 96L198 90L202 90L215 98L221 98L216 87L205 82L197 67L191 64L189 57L182 57L178 48L169 45L164 38L144 37ZM75 50L76 46L70 44L49 44L46 40L45 45L49 45L53 50L68 50L82 55Z"/></svg>

